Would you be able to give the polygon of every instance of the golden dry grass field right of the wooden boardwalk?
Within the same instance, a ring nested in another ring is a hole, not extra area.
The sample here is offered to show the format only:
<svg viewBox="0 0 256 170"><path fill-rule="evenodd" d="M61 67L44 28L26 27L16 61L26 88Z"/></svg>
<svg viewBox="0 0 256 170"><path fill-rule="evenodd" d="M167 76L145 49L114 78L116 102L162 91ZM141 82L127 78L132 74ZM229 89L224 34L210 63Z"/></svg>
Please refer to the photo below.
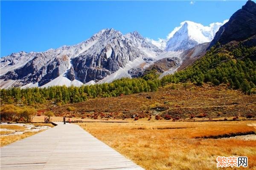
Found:
<svg viewBox="0 0 256 170"><path fill-rule="evenodd" d="M217 169L217 156L247 156L247 169L255 170L255 141L195 139L253 131L254 127L247 125L251 123L159 121L79 125L146 170L213 170Z"/></svg>

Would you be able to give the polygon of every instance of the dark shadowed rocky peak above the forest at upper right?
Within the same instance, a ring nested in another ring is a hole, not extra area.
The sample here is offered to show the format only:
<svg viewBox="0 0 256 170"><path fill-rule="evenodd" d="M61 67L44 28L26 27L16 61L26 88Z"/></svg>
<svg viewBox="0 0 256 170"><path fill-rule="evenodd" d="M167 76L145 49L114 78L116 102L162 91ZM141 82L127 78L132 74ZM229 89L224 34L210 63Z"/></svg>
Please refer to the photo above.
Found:
<svg viewBox="0 0 256 170"><path fill-rule="evenodd" d="M243 41L253 35L256 35L256 3L248 0L220 27L209 48L217 42L226 44L231 41Z"/></svg>

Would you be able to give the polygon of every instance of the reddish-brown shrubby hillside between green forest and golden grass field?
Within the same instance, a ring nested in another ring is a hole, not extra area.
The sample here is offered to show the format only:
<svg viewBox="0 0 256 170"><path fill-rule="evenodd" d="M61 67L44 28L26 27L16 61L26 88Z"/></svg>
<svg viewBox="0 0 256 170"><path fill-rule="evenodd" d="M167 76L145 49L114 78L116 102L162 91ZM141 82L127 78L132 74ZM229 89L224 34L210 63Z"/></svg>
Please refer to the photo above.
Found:
<svg viewBox="0 0 256 170"><path fill-rule="evenodd" d="M256 95L244 95L240 91L230 90L226 85L172 84L156 92L89 99L54 109L50 109L51 106L49 109L56 116L73 115L92 119L133 119L133 115L147 119L160 115L165 119L166 114L172 119L189 119L191 115L202 114L206 114L204 117L207 119L223 119L231 116L256 116L255 105ZM157 108L163 108L163 111Z"/></svg>

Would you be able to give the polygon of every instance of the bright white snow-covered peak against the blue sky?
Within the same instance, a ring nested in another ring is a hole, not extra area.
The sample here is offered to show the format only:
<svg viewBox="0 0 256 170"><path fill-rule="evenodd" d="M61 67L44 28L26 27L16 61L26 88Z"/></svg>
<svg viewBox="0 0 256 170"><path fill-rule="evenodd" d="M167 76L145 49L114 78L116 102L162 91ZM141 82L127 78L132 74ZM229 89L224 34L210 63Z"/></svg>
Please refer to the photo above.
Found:
<svg viewBox="0 0 256 170"><path fill-rule="evenodd" d="M204 42L211 42L218 29L226 23L211 23L209 26L192 21L184 21L176 27L166 39L158 41L151 40L151 43L165 51L185 51Z"/></svg>

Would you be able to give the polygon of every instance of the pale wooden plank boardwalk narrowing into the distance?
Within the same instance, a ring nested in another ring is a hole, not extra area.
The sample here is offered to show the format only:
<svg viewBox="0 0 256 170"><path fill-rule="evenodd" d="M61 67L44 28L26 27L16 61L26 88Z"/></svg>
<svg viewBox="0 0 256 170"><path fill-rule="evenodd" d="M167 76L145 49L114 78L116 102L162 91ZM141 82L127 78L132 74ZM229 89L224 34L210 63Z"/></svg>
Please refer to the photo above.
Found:
<svg viewBox="0 0 256 170"><path fill-rule="evenodd" d="M1 147L1 170L143 170L74 124Z"/></svg>

